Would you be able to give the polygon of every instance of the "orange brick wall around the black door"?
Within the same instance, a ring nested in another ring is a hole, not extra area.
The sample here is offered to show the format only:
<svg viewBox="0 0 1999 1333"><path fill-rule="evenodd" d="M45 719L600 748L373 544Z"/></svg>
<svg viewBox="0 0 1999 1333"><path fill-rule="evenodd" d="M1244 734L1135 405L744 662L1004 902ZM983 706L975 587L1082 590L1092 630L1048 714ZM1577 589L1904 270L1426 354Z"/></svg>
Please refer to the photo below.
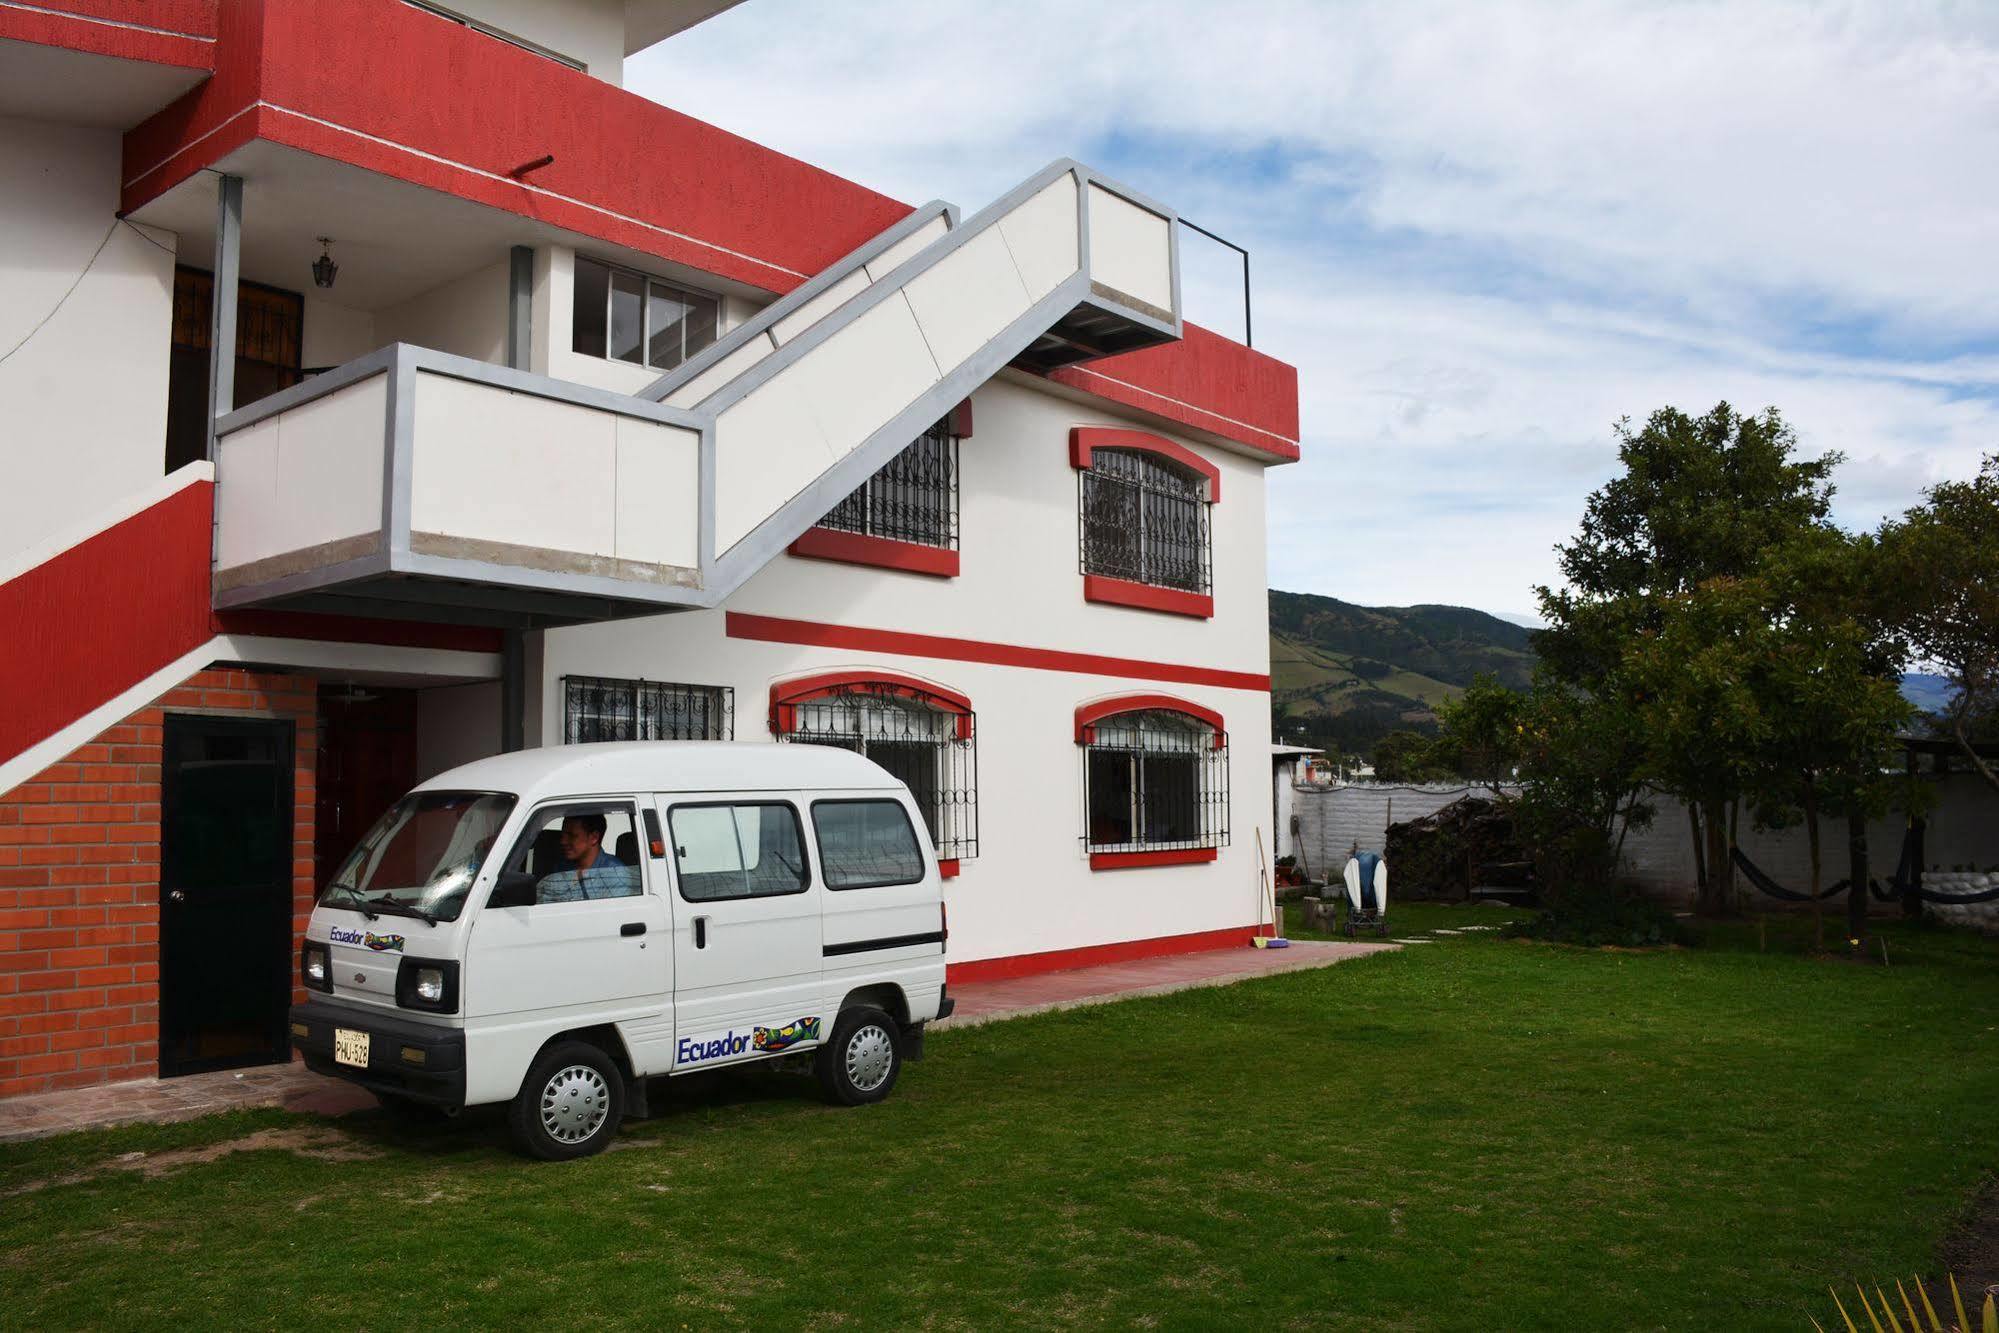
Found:
<svg viewBox="0 0 1999 1333"><path fill-rule="evenodd" d="M164 713L296 723L294 941L306 929L316 691L312 675L198 671L0 795L0 1097L160 1071Z"/></svg>

